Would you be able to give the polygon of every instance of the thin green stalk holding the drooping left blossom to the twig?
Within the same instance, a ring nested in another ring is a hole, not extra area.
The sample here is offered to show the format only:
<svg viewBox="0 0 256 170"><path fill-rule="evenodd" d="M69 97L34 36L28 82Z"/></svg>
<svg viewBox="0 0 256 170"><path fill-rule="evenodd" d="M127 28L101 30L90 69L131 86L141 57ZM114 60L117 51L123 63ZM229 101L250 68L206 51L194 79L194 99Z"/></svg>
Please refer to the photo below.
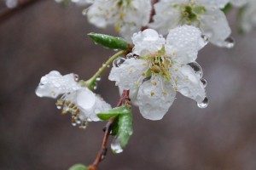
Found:
<svg viewBox="0 0 256 170"><path fill-rule="evenodd" d="M127 51L122 50L122 51L119 51L116 54L113 54L113 56L110 57L106 61L106 63L103 64L102 67L98 71L96 71L95 75L93 77L90 77L90 79L85 82L86 86L88 88L90 88L90 90L94 90L93 88L95 86L96 78L97 77L101 77L102 76L102 72L105 71L108 68L108 65L111 65L113 63L114 59L117 59L120 55L123 55L123 54L127 54Z"/></svg>

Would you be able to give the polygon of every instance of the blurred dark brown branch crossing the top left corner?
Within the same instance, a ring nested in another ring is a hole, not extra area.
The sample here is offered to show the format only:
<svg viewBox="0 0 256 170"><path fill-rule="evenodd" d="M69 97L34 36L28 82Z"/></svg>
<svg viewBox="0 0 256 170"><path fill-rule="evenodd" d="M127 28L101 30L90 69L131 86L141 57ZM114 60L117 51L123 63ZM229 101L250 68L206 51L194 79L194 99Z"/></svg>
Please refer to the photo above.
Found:
<svg viewBox="0 0 256 170"><path fill-rule="evenodd" d="M25 9L26 7L29 7L32 4L38 3L40 1L42 2L42 0L20 0L15 8L4 8L0 12L0 23L4 20L7 20L13 14L16 14L18 11Z"/></svg>

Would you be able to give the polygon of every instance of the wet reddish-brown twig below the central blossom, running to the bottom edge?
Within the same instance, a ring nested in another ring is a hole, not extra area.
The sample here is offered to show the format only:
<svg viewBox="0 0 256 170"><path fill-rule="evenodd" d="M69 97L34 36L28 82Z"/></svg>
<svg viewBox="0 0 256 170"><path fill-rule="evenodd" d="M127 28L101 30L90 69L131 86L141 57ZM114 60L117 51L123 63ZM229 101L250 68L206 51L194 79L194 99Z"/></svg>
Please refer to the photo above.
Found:
<svg viewBox="0 0 256 170"><path fill-rule="evenodd" d="M131 105L131 99L129 98L129 90L124 90L123 94L121 95L120 99L119 99L119 103L117 105L117 107L121 106L121 105ZM114 118L110 119L106 125L106 127L104 128L104 137L102 140L102 149L98 152L95 161L93 162L93 164L91 164L88 169L89 170L96 170L100 164L101 161L103 161L103 159L105 158L105 156L107 155L107 151L108 151L108 137L109 134L111 132L111 127L112 124L114 122Z"/></svg>

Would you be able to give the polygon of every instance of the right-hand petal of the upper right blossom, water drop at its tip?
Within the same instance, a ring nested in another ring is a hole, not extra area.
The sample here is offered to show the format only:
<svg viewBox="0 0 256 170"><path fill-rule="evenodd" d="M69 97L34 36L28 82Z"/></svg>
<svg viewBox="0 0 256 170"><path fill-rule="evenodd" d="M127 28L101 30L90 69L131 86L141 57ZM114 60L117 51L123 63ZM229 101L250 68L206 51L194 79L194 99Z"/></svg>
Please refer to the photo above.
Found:
<svg viewBox="0 0 256 170"><path fill-rule="evenodd" d="M206 13L202 15L200 28L209 37L210 42L220 47L224 47L224 40L231 33L225 14L215 8L207 8Z"/></svg>

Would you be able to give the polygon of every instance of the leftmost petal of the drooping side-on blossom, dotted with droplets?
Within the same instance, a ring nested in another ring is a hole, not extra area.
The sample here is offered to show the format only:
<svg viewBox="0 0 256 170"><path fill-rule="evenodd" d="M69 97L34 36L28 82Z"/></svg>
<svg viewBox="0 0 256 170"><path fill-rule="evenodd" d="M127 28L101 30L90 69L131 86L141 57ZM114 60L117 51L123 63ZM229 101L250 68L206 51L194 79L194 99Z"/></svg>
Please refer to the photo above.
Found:
<svg viewBox="0 0 256 170"><path fill-rule="evenodd" d="M38 97L56 98L60 94L73 92L80 88L78 82L75 81L74 74L61 76L58 71L50 71L41 78L36 94Z"/></svg>

